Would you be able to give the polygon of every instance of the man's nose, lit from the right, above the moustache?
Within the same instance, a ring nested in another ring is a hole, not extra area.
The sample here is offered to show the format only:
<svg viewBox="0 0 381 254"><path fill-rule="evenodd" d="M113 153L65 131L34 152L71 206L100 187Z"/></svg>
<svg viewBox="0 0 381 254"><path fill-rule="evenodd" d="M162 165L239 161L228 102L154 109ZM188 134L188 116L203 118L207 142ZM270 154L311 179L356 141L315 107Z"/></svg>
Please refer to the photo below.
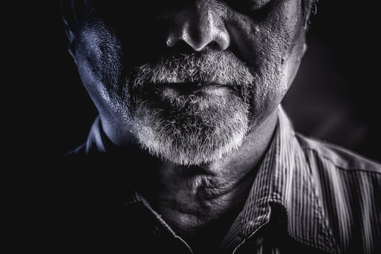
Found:
<svg viewBox="0 0 381 254"><path fill-rule="evenodd" d="M225 50L230 37L224 21L223 11L214 1L195 1L188 8L174 14L174 25L167 35L167 47L186 42L196 52L205 47Z"/></svg>

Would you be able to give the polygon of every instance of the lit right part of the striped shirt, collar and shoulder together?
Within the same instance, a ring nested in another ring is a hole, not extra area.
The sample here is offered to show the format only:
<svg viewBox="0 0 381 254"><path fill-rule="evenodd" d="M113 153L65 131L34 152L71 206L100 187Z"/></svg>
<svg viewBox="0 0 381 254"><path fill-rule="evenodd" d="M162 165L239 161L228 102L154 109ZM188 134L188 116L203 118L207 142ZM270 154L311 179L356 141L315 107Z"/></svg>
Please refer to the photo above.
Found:
<svg viewBox="0 0 381 254"><path fill-rule="evenodd" d="M306 246L323 253L381 251L380 169L353 152L295 133L280 108L274 140L222 249L237 250L255 238L276 203L288 215L289 236ZM282 248L263 243L255 253Z"/></svg>

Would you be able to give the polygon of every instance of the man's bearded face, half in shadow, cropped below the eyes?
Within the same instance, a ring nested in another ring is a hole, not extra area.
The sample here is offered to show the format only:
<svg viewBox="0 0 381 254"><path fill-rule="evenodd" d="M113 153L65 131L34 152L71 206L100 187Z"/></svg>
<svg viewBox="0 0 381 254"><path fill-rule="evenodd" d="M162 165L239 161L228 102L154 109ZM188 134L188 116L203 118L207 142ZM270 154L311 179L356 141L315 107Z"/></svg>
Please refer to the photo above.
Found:
<svg viewBox="0 0 381 254"><path fill-rule="evenodd" d="M114 143L219 159L265 121L303 55L300 0L84 1L73 52ZM111 134L110 134L111 133Z"/></svg>

